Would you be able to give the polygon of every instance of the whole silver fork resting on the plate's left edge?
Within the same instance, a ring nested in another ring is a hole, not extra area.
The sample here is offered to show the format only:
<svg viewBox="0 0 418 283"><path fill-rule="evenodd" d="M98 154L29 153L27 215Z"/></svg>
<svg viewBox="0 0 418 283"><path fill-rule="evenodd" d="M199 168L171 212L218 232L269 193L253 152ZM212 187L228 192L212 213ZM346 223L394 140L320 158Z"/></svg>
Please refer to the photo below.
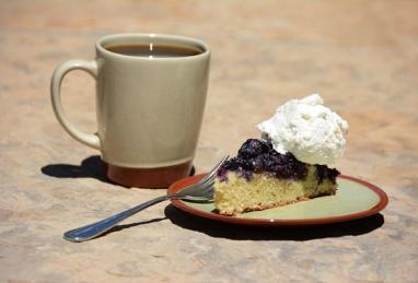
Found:
<svg viewBox="0 0 418 283"><path fill-rule="evenodd" d="M84 241L92 239L106 231L114 227L116 224L126 220L127 217L144 210L153 204L162 202L170 199L182 199L182 200L191 200L191 201L210 201L213 199L213 182L216 173L221 167L221 165L228 160L229 156L223 157L217 166L214 166L204 178L198 182L186 187L185 189L166 196L161 196L155 199L146 201L137 207L133 207L129 210L123 211L118 214L115 214L105 220L89 224L76 229L68 231L63 233L63 238L69 241Z"/></svg>

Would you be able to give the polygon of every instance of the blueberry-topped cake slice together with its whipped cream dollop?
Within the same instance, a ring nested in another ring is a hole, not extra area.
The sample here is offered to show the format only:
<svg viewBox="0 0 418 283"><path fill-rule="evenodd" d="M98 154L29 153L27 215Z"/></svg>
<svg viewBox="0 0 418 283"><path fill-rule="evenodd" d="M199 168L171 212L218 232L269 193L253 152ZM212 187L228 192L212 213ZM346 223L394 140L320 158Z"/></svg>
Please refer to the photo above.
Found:
<svg viewBox="0 0 418 283"><path fill-rule="evenodd" d="M348 123L318 94L291 99L258 125L263 140L249 139L218 170L214 205L234 215L307 200L337 190Z"/></svg>

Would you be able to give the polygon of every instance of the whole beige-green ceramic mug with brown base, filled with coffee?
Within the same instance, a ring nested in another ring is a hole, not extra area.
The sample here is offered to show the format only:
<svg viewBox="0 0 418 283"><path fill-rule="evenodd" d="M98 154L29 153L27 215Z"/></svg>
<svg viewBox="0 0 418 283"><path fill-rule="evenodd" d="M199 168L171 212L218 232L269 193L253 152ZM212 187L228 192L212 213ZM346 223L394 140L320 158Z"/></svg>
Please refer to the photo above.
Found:
<svg viewBox="0 0 418 283"><path fill-rule="evenodd" d="M97 149L106 176L128 187L164 188L191 168L207 95L210 49L201 40L159 34L101 38L94 60L69 60L53 74L58 121ZM60 85L71 70L96 80L97 132L77 129L62 110Z"/></svg>

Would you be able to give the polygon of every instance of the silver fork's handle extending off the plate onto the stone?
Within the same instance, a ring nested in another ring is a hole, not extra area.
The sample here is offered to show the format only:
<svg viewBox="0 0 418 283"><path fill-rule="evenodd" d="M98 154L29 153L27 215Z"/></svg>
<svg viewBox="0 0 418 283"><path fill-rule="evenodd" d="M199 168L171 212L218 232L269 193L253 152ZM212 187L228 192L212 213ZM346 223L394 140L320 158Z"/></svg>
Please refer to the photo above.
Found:
<svg viewBox="0 0 418 283"><path fill-rule="evenodd" d="M113 215L108 219L95 222L90 225L82 226L80 228L71 229L66 233L63 233L63 238L69 241L84 241L89 240L91 238L94 238L106 231L114 227L116 224L121 222L123 220L126 220L127 217L140 212L141 210L144 210L151 205L154 205L159 202L162 202L164 200L169 200L170 196L161 196L155 199L146 201L137 207L133 207L129 210L123 211L116 215Z"/></svg>

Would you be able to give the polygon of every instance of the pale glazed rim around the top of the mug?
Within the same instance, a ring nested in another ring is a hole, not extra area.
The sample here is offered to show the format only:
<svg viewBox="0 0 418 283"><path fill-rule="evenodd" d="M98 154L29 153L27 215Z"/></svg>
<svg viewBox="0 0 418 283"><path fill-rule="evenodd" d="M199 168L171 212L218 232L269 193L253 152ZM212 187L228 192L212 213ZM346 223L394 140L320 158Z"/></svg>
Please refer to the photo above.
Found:
<svg viewBox="0 0 418 283"><path fill-rule="evenodd" d="M105 48L106 42L112 42L112 40L117 42L117 40L120 40L124 38L126 39L126 38L135 38L135 37L137 37L137 38L162 38L162 39L166 39L167 43L170 43L170 42L171 43L182 42L183 44L186 44L188 46L198 47L199 49L201 49L201 52L199 52L197 55L193 55L193 56L149 58L149 57L130 56L130 55L123 55L123 54L118 54L118 52L113 52L113 51L109 51ZM188 36L170 35L170 34L154 34L154 33L138 33L138 34L137 33L123 33L123 34L106 35L96 42L96 49L104 55L116 57L116 58L123 58L123 59L129 58L129 60L146 60L146 61L194 60L194 59L199 59L201 57L206 57L210 54L209 45L206 44L205 42L200 40L200 39L197 39L194 37L188 37Z"/></svg>

